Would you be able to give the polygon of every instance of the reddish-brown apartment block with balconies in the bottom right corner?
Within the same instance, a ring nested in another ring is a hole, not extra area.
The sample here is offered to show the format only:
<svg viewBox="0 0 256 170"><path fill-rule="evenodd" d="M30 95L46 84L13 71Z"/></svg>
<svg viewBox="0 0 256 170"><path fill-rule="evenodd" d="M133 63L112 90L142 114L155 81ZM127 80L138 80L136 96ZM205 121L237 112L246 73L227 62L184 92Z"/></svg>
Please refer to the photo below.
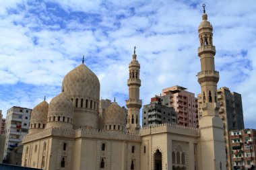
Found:
<svg viewBox="0 0 256 170"><path fill-rule="evenodd" d="M230 130L231 168L255 169L255 129Z"/></svg>

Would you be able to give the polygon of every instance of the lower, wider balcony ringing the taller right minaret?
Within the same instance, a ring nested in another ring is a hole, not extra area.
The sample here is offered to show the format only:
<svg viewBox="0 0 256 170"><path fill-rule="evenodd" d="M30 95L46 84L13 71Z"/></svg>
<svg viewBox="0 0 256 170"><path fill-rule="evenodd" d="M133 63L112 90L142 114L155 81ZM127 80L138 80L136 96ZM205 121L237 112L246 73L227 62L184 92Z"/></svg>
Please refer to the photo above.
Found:
<svg viewBox="0 0 256 170"><path fill-rule="evenodd" d="M197 73L197 79L199 83L203 81L218 82L220 79L220 75L218 71L201 71Z"/></svg>

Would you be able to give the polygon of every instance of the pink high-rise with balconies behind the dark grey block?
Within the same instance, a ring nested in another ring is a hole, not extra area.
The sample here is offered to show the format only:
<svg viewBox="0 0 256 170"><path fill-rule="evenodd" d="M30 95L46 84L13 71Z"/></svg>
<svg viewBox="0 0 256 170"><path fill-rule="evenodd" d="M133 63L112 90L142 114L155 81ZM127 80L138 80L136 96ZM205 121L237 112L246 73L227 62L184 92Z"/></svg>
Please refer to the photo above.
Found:
<svg viewBox="0 0 256 170"><path fill-rule="evenodd" d="M197 98L195 93L186 91L185 87L175 85L162 89L162 95L163 99L164 96L169 95L167 99L170 107L177 112L177 124L198 128Z"/></svg>

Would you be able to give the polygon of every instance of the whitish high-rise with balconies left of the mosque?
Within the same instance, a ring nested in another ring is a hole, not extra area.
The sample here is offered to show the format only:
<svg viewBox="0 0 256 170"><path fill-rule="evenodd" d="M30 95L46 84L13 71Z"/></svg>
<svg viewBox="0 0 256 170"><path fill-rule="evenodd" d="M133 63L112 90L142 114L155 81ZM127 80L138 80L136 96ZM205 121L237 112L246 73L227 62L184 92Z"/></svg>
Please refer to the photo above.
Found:
<svg viewBox="0 0 256 170"><path fill-rule="evenodd" d="M5 122L5 148L3 153L3 159L7 160L7 163L14 164L20 163L20 161L11 160L8 154L22 145L22 138L28 134L28 128L30 126L30 113L31 109L21 108L13 106L7 110L6 122Z"/></svg>

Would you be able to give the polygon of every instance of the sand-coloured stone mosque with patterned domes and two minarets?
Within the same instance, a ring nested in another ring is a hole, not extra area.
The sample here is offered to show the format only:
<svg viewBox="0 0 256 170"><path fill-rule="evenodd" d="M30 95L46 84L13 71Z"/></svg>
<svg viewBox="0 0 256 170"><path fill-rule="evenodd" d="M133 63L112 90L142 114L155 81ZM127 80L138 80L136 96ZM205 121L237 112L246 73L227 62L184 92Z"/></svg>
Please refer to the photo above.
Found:
<svg viewBox="0 0 256 170"><path fill-rule="evenodd" d="M22 166L47 170L226 169L223 124L218 97L214 97L219 80L216 50L205 10L198 30L201 72L197 79L203 99L199 128L177 124L140 127L141 80L135 52L129 63L127 121L117 102L100 115L100 82L83 61L65 75L59 95L32 111L29 134L23 139Z"/></svg>

